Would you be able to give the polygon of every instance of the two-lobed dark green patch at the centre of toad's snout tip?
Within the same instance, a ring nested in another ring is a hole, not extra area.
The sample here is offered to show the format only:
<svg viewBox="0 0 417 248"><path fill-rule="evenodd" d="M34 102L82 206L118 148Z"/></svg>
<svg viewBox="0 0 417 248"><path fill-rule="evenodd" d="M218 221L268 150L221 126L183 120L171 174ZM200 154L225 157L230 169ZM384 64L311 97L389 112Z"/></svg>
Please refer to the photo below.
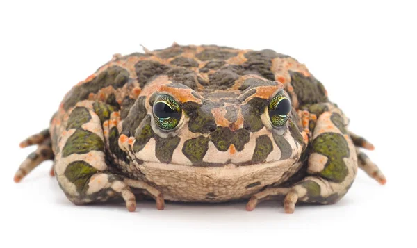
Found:
<svg viewBox="0 0 417 248"><path fill-rule="evenodd" d="M210 140L219 151L227 151L231 144L237 151L242 151L245 144L249 142L250 132L245 129L231 131L227 127L219 126L210 134Z"/></svg>

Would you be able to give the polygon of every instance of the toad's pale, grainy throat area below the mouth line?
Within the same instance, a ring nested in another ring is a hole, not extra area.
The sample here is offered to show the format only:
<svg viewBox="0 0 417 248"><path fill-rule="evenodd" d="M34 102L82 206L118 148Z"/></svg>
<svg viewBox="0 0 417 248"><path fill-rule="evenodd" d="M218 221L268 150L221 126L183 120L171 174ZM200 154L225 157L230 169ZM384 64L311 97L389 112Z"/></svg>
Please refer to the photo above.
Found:
<svg viewBox="0 0 417 248"><path fill-rule="evenodd" d="M297 158L257 165L192 167L145 162L138 166L148 183L169 201L220 202L250 198L266 185L283 183L301 163Z"/></svg>

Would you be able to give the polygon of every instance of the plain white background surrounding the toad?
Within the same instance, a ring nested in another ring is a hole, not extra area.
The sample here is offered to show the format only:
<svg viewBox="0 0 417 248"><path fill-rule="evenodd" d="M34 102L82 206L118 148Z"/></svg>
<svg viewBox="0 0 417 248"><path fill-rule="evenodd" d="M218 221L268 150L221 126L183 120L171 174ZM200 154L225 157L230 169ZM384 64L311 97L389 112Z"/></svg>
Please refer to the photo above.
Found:
<svg viewBox="0 0 417 248"><path fill-rule="evenodd" d="M0 247L416 247L416 6L403 1L1 1ZM151 3L152 2L152 3ZM273 2L273 3L272 3ZM314 3L313 3L314 2ZM359 172L332 206L138 202L74 206L44 163L13 183L72 85L113 53L179 44L274 49L309 67L375 144L388 179Z"/></svg>

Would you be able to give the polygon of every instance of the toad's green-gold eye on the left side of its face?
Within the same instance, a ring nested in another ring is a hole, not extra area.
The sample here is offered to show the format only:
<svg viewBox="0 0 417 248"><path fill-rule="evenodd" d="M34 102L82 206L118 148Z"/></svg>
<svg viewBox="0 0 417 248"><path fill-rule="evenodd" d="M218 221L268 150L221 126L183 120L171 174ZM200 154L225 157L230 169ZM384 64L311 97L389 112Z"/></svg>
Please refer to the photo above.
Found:
<svg viewBox="0 0 417 248"><path fill-rule="evenodd" d="M155 123L164 130L174 129L181 119L181 107L167 94L160 94L156 97L152 110Z"/></svg>

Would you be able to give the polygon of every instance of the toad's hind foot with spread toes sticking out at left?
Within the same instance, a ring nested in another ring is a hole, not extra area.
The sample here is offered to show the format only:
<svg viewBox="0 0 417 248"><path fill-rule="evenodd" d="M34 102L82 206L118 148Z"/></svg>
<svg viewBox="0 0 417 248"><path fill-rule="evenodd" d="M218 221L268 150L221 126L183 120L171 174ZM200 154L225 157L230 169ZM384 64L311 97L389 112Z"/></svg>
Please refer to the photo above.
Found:
<svg viewBox="0 0 417 248"><path fill-rule="evenodd" d="M54 152L51 147L51 138L49 137L49 131L42 131L36 135L24 140L20 143L20 147L28 147L32 144L38 144L38 148L33 151L28 157L22 162L17 170L14 180L16 183L22 181L24 176L31 172L35 167L40 165L45 160L54 160Z"/></svg>

